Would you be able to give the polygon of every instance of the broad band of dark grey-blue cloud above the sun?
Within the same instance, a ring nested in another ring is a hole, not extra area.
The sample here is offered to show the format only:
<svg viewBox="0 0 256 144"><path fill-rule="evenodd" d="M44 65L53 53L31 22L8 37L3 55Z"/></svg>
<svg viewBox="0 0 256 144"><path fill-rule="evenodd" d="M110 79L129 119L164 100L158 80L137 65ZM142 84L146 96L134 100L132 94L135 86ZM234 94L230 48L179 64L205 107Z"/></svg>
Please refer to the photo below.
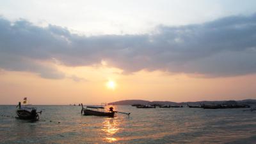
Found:
<svg viewBox="0 0 256 144"><path fill-rule="evenodd" d="M256 72L256 15L204 24L159 26L150 34L79 36L63 27L38 27L0 18L0 68L31 71L44 78L65 75L40 62L67 66L108 61L126 73L147 69L205 76Z"/></svg>

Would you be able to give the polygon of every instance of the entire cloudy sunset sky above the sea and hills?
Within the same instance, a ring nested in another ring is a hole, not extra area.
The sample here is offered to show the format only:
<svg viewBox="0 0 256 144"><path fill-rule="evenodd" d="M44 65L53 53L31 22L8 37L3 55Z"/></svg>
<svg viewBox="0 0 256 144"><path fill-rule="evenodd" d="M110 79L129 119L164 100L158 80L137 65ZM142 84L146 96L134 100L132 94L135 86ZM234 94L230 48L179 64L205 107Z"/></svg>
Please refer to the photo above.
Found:
<svg viewBox="0 0 256 144"><path fill-rule="evenodd" d="M1 1L0 104L256 99L256 1Z"/></svg>

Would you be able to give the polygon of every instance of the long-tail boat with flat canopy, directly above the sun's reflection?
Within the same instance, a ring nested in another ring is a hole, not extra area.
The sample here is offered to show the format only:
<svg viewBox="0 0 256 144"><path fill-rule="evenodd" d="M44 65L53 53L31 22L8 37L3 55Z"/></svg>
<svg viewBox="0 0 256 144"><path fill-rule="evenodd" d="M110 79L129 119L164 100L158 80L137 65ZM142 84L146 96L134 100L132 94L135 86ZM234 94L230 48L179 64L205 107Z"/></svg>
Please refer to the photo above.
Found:
<svg viewBox="0 0 256 144"><path fill-rule="evenodd" d="M81 114L84 113L84 115L95 115L95 116L101 116L101 117L114 117L115 112L104 112L104 107L102 106L86 106L83 107L83 104L81 104L82 110Z"/></svg>

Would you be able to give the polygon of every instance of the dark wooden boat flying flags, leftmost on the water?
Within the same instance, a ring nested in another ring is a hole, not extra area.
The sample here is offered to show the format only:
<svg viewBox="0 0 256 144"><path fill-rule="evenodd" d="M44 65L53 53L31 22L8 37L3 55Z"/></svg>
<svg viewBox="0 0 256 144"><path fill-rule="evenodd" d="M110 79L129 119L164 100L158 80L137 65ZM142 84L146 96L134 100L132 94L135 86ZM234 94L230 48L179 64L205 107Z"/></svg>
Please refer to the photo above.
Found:
<svg viewBox="0 0 256 144"><path fill-rule="evenodd" d="M42 111L36 112L36 108L21 107L20 102L19 102L18 106L19 106L19 108L17 108L16 113L17 113L19 119L39 120L38 113L42 113Z"/></svg>

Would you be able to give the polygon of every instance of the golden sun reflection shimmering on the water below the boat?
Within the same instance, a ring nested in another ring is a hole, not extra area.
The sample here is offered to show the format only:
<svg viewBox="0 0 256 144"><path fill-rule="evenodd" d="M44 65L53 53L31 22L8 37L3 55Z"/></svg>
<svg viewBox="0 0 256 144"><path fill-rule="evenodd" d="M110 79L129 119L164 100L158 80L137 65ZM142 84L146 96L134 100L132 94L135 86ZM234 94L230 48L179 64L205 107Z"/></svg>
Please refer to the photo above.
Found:
<svg viewBox="0 0 256 144"><path fill-rule="evenodd" d="M109 143L117 141L114 134L119 131L118 122L113 118L106 118L103 122L102 131L106 134L106 141Z"/></svg>

